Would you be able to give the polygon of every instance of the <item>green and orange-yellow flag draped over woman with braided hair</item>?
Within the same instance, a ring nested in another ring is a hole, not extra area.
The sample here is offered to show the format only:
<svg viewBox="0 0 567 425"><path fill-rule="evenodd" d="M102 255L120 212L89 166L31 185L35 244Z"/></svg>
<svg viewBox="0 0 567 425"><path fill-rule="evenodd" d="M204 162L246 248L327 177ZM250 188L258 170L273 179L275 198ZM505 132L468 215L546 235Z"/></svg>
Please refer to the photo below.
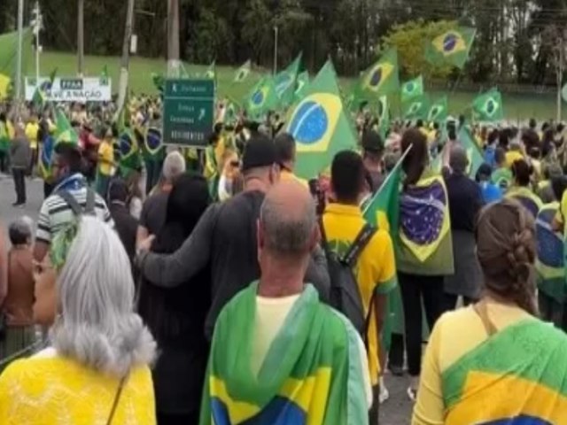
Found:
<svg viewBox="0 0 567 425"><path fill-rule="evenodd" d="M445 424L565 423L565 352L563 332L536 319L490 336L441 374Z"/></svg>

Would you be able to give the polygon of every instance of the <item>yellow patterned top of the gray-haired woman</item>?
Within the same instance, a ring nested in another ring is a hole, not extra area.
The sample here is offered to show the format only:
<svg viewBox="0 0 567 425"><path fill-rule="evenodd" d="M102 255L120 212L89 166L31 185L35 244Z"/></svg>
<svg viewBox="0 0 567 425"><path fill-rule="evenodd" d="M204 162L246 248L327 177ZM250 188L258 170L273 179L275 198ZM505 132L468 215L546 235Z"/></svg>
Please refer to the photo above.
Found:
<svg viewBox="0 0 567 425"><path fill-rule="evenodd" d="M119 382L57 354L14 361L0 376L0 423L105 424ZM128 375L113 423L156 423L149 367L137 367Z"/></svg>

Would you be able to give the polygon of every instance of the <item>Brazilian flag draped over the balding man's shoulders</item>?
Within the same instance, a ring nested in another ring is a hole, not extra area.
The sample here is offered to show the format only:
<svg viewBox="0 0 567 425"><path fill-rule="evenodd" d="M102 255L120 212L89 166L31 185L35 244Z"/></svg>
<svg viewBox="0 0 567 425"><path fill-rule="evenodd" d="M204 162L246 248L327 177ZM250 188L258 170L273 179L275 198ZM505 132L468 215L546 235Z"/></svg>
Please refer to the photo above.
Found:
<svg viewBox="0 0 567 425"><path fill-rule="evenodd" d="M307 285L266 358L253 359L257 289L241 291L216 323L200 425L368 424L352 325Z"/></svg>

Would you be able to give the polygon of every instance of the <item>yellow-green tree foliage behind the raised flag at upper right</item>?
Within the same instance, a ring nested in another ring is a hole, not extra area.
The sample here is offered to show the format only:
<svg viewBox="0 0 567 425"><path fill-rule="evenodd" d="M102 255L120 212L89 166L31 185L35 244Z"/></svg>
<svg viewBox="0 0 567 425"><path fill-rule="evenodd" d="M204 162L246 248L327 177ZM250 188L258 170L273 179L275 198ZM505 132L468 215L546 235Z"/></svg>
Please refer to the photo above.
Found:
<svg viewBox="0 0 567 425"><path fill-rule="evenodd" d="M453 66L433 66L425 60L425 43L431 41L437 35L454 28L455 21L439 20L424 22L423 19L410 20L404 24L392 27L382 42L384 50L390 47L398 49L398 60L400 70L405 78L415 77L423 74L425 81L436 79L447 79L453 72Z"/></svg>

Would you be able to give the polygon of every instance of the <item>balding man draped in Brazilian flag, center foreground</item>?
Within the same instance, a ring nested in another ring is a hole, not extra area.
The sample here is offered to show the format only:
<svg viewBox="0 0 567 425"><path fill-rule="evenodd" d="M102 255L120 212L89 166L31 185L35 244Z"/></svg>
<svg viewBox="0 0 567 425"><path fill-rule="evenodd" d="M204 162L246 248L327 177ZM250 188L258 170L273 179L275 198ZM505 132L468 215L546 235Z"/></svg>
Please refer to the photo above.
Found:
<svg viewBox="0 0 567 425"><path fill-rule="evenodd" d="M248 407L242 423L368 424L361 338L304 283L319 236L315 202L300 182L268 190L257 223L260 279L216 323L201 425L235 421L235 400Z"/></svg>

